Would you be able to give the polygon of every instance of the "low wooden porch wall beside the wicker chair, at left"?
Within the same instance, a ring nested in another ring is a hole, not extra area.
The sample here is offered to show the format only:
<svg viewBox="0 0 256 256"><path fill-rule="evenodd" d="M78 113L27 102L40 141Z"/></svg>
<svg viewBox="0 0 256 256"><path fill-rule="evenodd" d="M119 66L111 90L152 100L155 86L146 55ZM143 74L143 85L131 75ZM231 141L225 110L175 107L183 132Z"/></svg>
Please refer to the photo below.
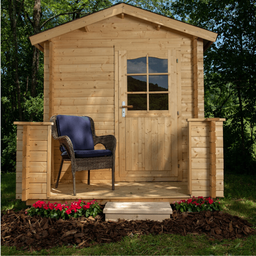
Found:
<svg viewBox="0 0 256 256"><path fill-rule="evenodd" d="M50 193L51 123L17 125L16 199L47 199Z"/></svg>

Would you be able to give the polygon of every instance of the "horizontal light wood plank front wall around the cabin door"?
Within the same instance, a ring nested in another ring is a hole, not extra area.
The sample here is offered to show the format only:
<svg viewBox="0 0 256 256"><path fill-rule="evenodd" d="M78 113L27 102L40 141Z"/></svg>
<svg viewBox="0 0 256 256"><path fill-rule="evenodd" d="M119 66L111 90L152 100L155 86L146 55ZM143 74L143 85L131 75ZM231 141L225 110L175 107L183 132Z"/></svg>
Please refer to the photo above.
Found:
<svg viewBox="0 0 256 256"><path fill-rule="evenodd" d="M129 30L129 31L128 31ZM99 40L100 39L100 40ZM187 181L187 128L186 119L194 116L194 84L193 84L193 42L192 36L181 32L174 32L161 26L157 30L155 23L147 22L137 17L125 15L110 17L87 26L87 32L77 29L73 32L60 35L51 41L54 49L54 70L49 71L49 42L45 43L45 81L44 81L44 121L49 121L49 112L52 114L72 114L91 116L96 125L96 134L114 134L114 50L161 50L180 49L180 85L181 90L179 118L182 119L182 156L180 161L179 179ZM203 44L198 40L198 60L203 58ZM203 70L198 69L201 78ZM52 73L54 92L49 108L49 72ZM54 96L53 96L54 93ZM54 102L54 103L52 103ZM51 111L50 111L51 110ZM198 86L198 111L204 113L204 88ZM54 143L54 177L56 180L60 156L58 143ZM99 147L101 148L101 147ZM180 153L181 154L181 153ZM116 155L118 159L118 154ZM185 157L185 158L184 158ZM181 157L180 157L181 158ZM118 161L116 161L118 162ZM116 166L119 168L119 166ZM63 171L71 169L65 163ZM53 169L52 169L53 170ZM87 181L87 172L77 174L82 183ZM103 176L102 176L103 175ZM109 182L109 170L92 172L93 182ZM95 180L94 180L95 179ZM71 182L70 172L63 172L61 182Z"/></svg>

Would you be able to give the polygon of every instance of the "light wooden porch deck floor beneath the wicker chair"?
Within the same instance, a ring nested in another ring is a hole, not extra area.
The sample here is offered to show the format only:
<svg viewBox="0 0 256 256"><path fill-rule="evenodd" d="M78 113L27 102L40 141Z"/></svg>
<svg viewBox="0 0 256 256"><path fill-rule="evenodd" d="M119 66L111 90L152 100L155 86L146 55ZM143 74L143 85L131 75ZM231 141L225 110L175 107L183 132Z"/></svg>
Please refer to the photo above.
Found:
<svg viewBox="0 0 256 256"><path fill-rule="evenodd" d="M189 198L187 182L116 182L115 190L111 183L76 184L76 196L72 183L52 185L49 201L74 201L76 199L93 200L105 204L107 201L138 202L162 201L173 203L182 198Z"/></svg>

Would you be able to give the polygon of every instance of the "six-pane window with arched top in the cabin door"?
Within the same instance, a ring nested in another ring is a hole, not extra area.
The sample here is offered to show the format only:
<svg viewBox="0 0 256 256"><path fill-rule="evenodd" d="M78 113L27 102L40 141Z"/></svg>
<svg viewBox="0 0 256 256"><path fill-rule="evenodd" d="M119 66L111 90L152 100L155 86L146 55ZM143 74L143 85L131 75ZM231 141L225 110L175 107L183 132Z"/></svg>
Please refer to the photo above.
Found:
<svg viewBox="0 0 256 256"><path fill-rule="evenodd" d="M133 105L128 111L169 109L167 59L127 60L127 103Z"/></svg>

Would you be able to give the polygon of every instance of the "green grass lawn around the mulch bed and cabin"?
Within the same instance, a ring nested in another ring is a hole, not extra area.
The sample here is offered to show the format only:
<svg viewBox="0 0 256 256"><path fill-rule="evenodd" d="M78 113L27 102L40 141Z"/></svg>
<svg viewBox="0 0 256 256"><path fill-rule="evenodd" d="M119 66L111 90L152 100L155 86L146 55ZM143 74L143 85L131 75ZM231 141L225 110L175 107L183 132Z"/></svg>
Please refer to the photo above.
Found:
<svg viewBox="0 0 256 256"><path fill-rule="evenodd" d="M224 175L224 212L238 215L256 228L256 177ZM1 174L1 210L23 209L15 200L15 173ZM122 241L79 249L75 246L50 250L24 251L1 246L1 255L256 255L256 236L218 241L204 235L169 235L125 237Z"/></svg>

